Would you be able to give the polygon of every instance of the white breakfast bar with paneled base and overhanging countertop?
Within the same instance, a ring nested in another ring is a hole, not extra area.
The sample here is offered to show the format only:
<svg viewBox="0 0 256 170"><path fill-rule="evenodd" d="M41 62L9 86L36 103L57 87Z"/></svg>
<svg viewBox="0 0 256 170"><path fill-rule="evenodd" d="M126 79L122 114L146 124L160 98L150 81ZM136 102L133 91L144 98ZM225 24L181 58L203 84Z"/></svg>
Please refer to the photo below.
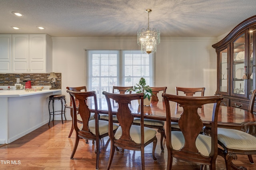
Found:
<svg viewBox="0 0 256 170"><path fill-rule="evenodd" d="M48 123L49 96L60 93L61 89L0 90L0 144L13 142Z"/></svg>

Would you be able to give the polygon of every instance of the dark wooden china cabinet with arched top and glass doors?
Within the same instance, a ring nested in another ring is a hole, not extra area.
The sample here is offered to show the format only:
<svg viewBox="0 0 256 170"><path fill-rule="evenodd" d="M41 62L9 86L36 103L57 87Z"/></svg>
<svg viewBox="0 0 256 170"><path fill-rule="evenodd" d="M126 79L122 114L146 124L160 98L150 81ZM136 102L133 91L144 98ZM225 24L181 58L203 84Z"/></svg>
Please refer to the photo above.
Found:
<svg viewBox="0 0 256 170"><path fill-rule="evenodd" d="M255 45L256 16L244 20L212 45L217 53L216 94L224 95L224 105L248 109L256 89Z"/></svg>

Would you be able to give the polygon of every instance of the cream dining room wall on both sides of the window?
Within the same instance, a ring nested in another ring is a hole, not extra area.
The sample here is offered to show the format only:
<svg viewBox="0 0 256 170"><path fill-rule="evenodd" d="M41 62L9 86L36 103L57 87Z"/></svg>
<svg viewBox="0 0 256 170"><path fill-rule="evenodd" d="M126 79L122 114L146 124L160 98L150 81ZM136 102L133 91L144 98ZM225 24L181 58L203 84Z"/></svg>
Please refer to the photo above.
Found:
<svg viewBox="0 0 256 170"><path fill-rule="evenodd" d="M66 87L86 85L84 49L140 49L137 38L52 37L53 71L62 73L62 94ZM156 86L205 87L205 95L214 95L217 86L217 58L212 44L217 38L161 37L156 52ZM69 114L66 114L70 116Z"/></svg>

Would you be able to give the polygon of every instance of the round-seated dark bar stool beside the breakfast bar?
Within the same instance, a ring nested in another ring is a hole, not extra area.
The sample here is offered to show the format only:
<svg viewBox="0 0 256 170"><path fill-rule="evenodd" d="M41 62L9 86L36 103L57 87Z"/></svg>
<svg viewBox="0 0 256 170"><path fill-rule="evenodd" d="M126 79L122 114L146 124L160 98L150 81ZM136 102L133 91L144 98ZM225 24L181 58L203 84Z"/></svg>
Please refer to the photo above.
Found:
<svg viewBox="0 0 256 170"><path fill-rule="evenodd" d="M61 102L61 111L54 111L54 101L55 100L58 100ZM63 111L63 100L64 100L64 111ZM50 111L50 102L52 101L52 112ZM50 125L50 121L51 121L51 115L53 115L52 117L52 121L54 121L54 115L61 115L61 121L62 121L62 124L63 124L63 114L64 114L64 117L65 117L65 120L66 119L66 116L65 116L65 111L66 111L66 96L65 95L50 95L49 96L49 104L48 104L48 108L49 108L49 115L50 115L50 119L49 119L49 123L48 125ZM57 114L56 114L57 112ZM60 113L59 113L60 112Z"/></svg>

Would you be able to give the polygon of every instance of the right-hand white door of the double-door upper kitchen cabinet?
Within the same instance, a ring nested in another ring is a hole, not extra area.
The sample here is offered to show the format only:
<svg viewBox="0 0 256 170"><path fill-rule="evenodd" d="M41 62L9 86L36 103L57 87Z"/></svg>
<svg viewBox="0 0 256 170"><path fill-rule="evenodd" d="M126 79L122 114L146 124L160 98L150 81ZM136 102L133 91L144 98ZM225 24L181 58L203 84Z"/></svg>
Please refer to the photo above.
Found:
<svg viewBox="0 0 256 170"><path fill-rule="evenodd" d="M46 73L46 35L29 35L30 73Z"/></svg>

